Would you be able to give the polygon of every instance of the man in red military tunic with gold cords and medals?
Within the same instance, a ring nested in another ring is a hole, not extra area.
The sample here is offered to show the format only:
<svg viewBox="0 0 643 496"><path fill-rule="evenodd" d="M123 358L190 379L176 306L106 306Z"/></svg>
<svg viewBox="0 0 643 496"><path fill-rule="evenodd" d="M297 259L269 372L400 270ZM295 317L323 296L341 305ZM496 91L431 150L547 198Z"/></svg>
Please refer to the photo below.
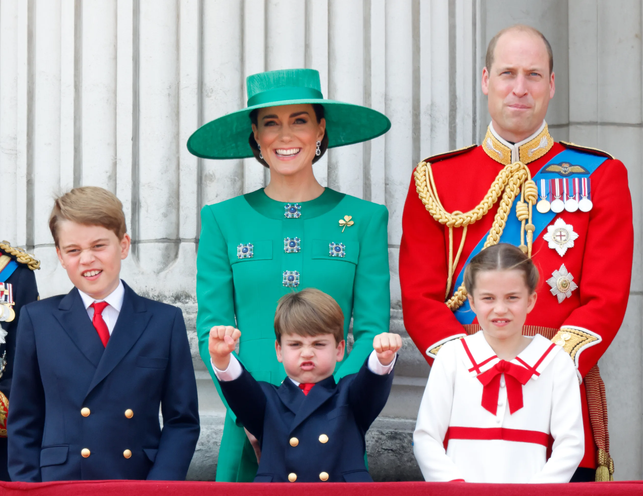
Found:
<svg viewBox="0 0 643 496"><path fill-rule="evenodd" d="M524 25L500 31L485 62L491 123L482 146L429 157L413 172L399 260L404 325L430 364L444 343L478 332L464 267L490 245L520 246L544 282L523 333L561 346L581 382L585 452L572 482L613 480L597 362L628 302L628 174L606 152L550 136L553 57L542 33Z"/></svg>

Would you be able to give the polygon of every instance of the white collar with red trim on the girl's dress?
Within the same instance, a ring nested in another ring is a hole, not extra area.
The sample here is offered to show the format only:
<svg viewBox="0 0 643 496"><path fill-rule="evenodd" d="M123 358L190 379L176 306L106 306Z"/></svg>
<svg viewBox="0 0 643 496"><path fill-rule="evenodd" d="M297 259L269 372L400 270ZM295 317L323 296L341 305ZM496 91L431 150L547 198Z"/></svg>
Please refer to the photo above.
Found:
<svg viewBox="0 0 643 496"><path fill-rule="evenodd" d="M500 359L485 339L482 330L471 336L463 337L461 341L460 357L471 376L478 376L500 362ZM515 359L511 360L511 363L531 369L533 371L531 378L536 380L561 349L561 346L556 346L555 343L549 341L543 335L536 334L527 348L521 351Z"/></svg>

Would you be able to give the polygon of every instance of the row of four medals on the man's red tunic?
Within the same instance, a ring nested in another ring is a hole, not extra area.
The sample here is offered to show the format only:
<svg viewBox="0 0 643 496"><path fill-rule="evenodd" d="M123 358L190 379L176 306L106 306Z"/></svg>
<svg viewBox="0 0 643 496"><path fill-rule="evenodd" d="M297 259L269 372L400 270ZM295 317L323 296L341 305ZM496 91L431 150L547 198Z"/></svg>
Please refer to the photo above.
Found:
<svg viewBox="0 0 643 496"><path fill-rule="evenodd" d="M538 184L540 200L536 209L540 213L588 212L592 209L592 191L589 177L541 179Z"/></svg>

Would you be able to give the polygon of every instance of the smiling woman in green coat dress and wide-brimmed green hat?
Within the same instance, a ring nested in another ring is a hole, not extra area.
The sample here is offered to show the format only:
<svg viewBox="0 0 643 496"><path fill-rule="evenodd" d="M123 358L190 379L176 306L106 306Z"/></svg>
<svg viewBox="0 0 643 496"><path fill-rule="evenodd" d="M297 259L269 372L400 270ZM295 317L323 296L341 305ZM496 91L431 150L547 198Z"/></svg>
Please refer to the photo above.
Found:
<svg viewBox="0 0 643 496"><path fill-rule="evenodd" d="M337 381L358 372L390 318L388 210L324 188L312 172L327 148L380 136L390 121L325 100L312 69L259 73L246 83L248 107L203 125L187 144L198 157L254 156L270 170L266 188L201 210L199 351L224 403L208 352L214 326L239 328L235 356L256 380L278 385L285 371L273 317L285 294L314 287L331 295L345 315L345 338L352 317L354 345L334 371ZM259 457L256 439L228 408L216 480L253 481Z"/></svg>

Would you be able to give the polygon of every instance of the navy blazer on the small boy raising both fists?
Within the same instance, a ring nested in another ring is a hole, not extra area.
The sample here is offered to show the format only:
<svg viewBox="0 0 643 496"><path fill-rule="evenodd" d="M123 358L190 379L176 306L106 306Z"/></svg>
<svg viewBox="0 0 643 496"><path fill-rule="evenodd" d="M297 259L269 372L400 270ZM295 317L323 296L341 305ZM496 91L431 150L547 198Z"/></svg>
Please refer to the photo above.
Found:
<svg viewBox="0 0 643 496"><path fill-rule="evenodd" d="M261 461L255 482L372 482L364 463L365 435L382 411L393 371L330 376L308 395L286 378L280 386L258 382L246 369L221 381L221 391L237 419L258 439ZM321 475L322 472L325 474ZM321 476L320 476L321 475Z"/></svg>

